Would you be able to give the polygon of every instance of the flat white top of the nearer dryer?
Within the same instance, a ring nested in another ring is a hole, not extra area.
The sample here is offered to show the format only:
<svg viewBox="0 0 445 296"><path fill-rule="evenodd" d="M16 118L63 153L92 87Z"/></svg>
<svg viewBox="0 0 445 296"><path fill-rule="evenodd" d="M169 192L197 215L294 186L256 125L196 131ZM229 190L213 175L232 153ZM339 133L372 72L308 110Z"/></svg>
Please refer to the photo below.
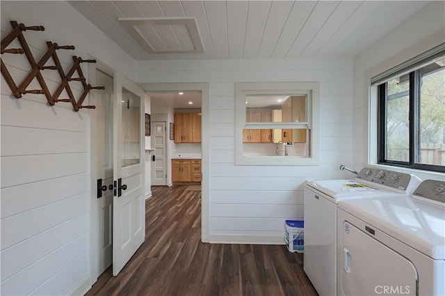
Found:
<svg viewBox="0 0 445 296"><path fill-rule="evenodd" d="M412 198L339 202L340 209L430 256L445 260L445 208Z"/></svg>

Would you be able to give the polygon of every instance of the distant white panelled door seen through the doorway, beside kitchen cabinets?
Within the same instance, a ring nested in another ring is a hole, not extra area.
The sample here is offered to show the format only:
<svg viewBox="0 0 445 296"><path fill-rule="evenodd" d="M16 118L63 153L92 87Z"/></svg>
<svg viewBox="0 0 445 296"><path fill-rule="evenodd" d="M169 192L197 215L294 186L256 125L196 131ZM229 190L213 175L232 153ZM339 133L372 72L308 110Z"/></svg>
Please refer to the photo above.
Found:
<svg viewBox="0 0 445 296"><path fill-rule="evenodd" d="M167 185L166 123L152 122L152 185ZM154 158L153 158L154 157Z"/></svg>

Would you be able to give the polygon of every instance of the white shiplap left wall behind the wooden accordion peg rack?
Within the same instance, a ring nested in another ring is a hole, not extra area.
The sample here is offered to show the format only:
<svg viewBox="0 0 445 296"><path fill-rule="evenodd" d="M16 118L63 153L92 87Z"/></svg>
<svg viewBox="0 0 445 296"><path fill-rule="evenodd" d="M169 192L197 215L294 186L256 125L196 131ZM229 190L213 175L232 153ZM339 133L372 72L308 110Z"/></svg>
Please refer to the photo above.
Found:
<svg viewBox="0 0 445 296"><path fill-rule="evenodd" d="M2 39L11 20L45 27L24 33L35 60L52 41L76 46L57 51L65 73L72 55L87 59L91 53L133 77L129 55L65 1L1 1ZM19 45L15 41L10 47ZM17 83L30 69L24 55L2 54L1 59ZM87 76L88 67L82 68ZM54 92L57 71L42 73ZM79 82L70 85L79 96ZM32 82L28 89L40 87ZM49 107L44 95L17 99L10 94L2 76L1 294L84 293L90 287L89 113L94 110L74 112L70 103Z"/></svg>

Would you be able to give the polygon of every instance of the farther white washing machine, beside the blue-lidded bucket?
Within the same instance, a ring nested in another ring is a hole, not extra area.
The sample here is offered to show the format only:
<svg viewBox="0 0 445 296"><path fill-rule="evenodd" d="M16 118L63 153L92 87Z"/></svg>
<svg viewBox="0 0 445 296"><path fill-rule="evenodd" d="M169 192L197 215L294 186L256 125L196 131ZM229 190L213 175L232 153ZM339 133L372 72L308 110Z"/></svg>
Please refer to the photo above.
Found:
<svg viewBox="0 0 445 296"><path fill-rule="evenodd" d="M354 180L307 182L304 270L319 295L335 295L337 291L337 203L410 195L420 182L414 175L366 167Z"/></svg>

